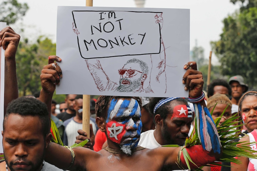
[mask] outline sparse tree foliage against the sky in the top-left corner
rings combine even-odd
[[[27,3],[18,3],[17,0],[4,0],[0,3],[0,21],[7,25],[22,18],[29,9]]]

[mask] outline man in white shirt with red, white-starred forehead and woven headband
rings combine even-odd
[[[165,101],[165,103],[162,103]],[[156,106],[159,106],[157,108]],[[157,148],[161,145],[184,145],[193,121],[192,111],[184,98],[150,98],[148,111],[154,116],[155,130],[141,134],[139,145]]]

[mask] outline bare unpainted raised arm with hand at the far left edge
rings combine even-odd
[[[4,114],[10,101],[18,98],[18,83],[16,76],[15,55],[20,41],[20,35],[11,27],[5,27],[0,31],[0,46],[5,50],[4,64]]]

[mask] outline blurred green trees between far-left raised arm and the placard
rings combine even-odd
[[[44,38],[44,39],[43,39]],[[37,43],[20,42],[16,54],[16,70],[20,96],[34,94],[41,90],[40,74],[48,63],[48,56],[55,55],[56,44],[45,37]]]

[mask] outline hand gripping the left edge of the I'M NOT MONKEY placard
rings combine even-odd
[[[42,89],[49,93],[55,91],[55,85],[59,84],[60,78],[62,78],[62,70],[55,61],[61,62],[61,58],[49,56],[48,65],[43,67],[40,75]]]

